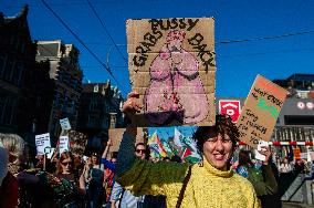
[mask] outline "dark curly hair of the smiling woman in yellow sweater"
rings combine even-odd
[[[239,131],[237,126],[232,123],[232,119],[228,115],[216,115],[216,125],[214,126],[199,126],[198,129],[193,133],[193,139],[197,142],[197,147],[200,153],[203,153],[202,146],[203,143],[211,137],[221,134],[228,134],[233,148],[239,141]]]

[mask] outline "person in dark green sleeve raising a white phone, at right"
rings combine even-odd
[[[265,147],[261,154],[265,156],[265,160],[262,164],[260,162],[254,164],[251,162],[250,152],[241,149],[237,171],[253,185],[262,207],[279,208],[278,183],[270,163],[271,150]]]

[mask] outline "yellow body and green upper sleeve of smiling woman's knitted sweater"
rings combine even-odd
[[[153,164],[136,159],[133,167],[116,180],[134,195],[165,195],[167,207],[176,207],[188,165],[170,162]],[[233,171],[221,171],[205,159],[193,165],[181,208],[255,208],[260,207],[253,186]]]

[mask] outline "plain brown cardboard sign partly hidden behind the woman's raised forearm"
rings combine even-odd
[[[109,148],[111,153],[118,152],[124,132],[125,128],[109,128],[109,138],[112,139],[112,146]],[[143,131],[143,128],[137,128],[136,144],[144,143],[146,137],[145,131]]]

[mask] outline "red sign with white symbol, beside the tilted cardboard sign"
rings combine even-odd
[[[232,122],[237,122],[241,113],[240,101],[237,100],[220,100],[219,114],[229,115]]]

